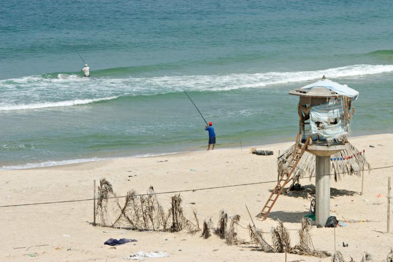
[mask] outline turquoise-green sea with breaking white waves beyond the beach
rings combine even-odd
[[[294,141],[291,89],[360,92],[392,132],[391,1],[0,0],[0,169]],[[83,62],[90,78],[82,78]],[[268,147],[267,147],[268,149]]]

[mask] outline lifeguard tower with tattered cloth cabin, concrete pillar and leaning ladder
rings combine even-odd
[[[289,165],[283,170],[258,217],[267,218],[284,186],[296,178],[292,175],[307,151],[315,155],[315,222],[324,226],[330,216],[330,158],[346,148],[353,115],[352,102],[358,98],[359,92],[323,77],[321,81],[292,90],[289,94],[300,97],[299,134]]]

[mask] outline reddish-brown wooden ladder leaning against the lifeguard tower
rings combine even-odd
[[[279,181],[277,181],[277,185],[270,194],[269,199],[266,201],[266,204],[263,206],[261,212],[257,215],[258,218],[262,218],[262,221],[264,221],[267,216],[270,213],[270,210],[272,210],[273,205],[276,203],[277,199],[279,198],[282,190],[284,189],[284,186],[291,180],[291,176],[293,172],[295,171],[296,166],[299,164],[300,159],[303,156],[303,153],[306,151],[306,148],[309,144],[309,141],[311,140],[311,137],[308,137],[306,142],[304,143],[304,146],[302,147],[302,144],[299,143],[299,139],[301,139],[301,135],[298,135],[296,138],[296,144],[295,148],[293,150],[293,155],[292,155],[292,160],[289,162],[289,167],[291,170],[290,172],[286,172],[286,170],[283,171],[283,173],[280,176]],[[284,176],[286,175],[286,179],[284,180]],[[282,184],[281,184],[282,183]]]

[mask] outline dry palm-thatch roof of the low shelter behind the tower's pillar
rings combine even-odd
[[[351,155],[355,155],[359,152],[355,146],[352,146],[349,142],[345,144],[346,148],[334,155],[332,158],[341,158]],[[277,159],[277,172],[279,175],[284,170],[288,170],[290,160],[292,159],[292,153],[295,145],[289,147],[283,154]],[[364,154],[358,154],[350,159],[341,161],[331,161],[330,170],[331,174],[335,175],[335,180],[339,179],[341,175],[361,175],[362,169],[370,169],[370,164],[365,159]],[[315,175],[315,156],[309,152],[304,152],[302,158],[297,165],[292,177],[303,177],[303,176],[314,176]]]

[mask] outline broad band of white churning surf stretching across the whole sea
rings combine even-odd
[[[339,81],[339,78],[387,72],[393,72],[392,64],[358,64],[314,71],[140,78],[82,78],[65,74],[51,78],[46,75],[34,75],[0,81],[0,111],[75,106],[119,96],[165,94],[181,91],[180,86],[195,91],[274,88],[288,83],[315,81],[322,75],[333,80],[338,78]],[[54,100],[57,102],[53,102]]]

